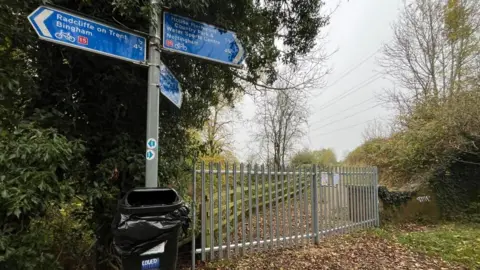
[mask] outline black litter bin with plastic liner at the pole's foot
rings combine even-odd
[[[124,270],[176,268],[180,229],[189,225],[189,209],[174,189],[135,188],[118,204],[113,244]]]

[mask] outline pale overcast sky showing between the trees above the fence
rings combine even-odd
[[[364,141],[363,131],[375,119],[385,122],[393,112],[379,98],[392,87],[378,65],[380,48],[393,36],[391,24],[399,16],[402,0],[326,0],[324,13],[330,24],[323,29],[325,51],[333,53],[326,66],[331,72],[325,87],[314,89],[309,99],[310,117],[301,148],[333,148],[337,157]],[[233,127],[235,153],[246,161],[252,153],[252,120],[255,102],[245,96],[237,109],[243,121]]]

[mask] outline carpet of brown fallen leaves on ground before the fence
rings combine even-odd
[[[257,252],[206,269],[466,269],[363,232],[327,238],[318,246]]]

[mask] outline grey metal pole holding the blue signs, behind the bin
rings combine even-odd
[[[158,122],[160,106],[160,17],[156,8],[158,0],[151,0],[152,20],[148,44],[148,105],[147,105],[147,151],[145,187],[158,186]]]

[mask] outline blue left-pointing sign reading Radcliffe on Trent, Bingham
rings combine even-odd
[[[137,34],[45,6],[28,20],[40,39],[137,64],[146,60],[146,39]]]

